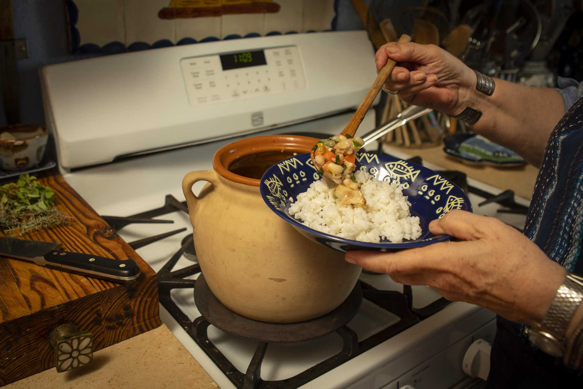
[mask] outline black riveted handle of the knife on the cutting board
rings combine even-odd
[[[132,282],[141,271],[132,260],[118,261],[98,255],[51,250],[44,255],[46,267],[107,279],[113,282]]]

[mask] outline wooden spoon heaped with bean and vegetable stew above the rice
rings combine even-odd
[[[409,43],[410,41],[411,37],[403,34],[399,38],[398,44]],[[329,178],[336,184],[349,185],[350,182],[356,183],[352,172],[356,168],[356,153],[364,145],[364,141],[362,138],[355,138],[354,135],[395,65],[395,61],[388,59],[387,65],[378,72],[373,86],[364,96],[363,101],[342,133],[331,136],[328,139],[320,139],[312,148],[310,153],[312,163],[321,176]]]

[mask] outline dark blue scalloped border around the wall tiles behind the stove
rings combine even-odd
[[[338,2],[339,0],[334,1],[334,17],[332,18],[331,29],[324,30],[325,31],[336,31],[336,26],[338,23]],[[142,51],[142,50],[149,50],[151,48],[161,48],[161,47],[170,47],[174,46],[174,43],[168,39],[161,39],[159,41],[154,42],[153,44],[148,44],[146,42],[134,42],[130,45],[126,46],[121,42],[115,41],[110,42],[102,47],[96,45],[94,43],[85,43],[83,45],[80,44],[81,42],[81,35],[79,30],[76,27],[77,22],[79,21],[79,8],[75,5],[75,1],[73,0],[66,0],[66,11],[69,17],[69,36],[71,37],[71,51],[73,54],[80,53],[80,54],[103,54],[103,55],[110,55],[110,54],[120,54],[122,52],[129,52],[129,51]],[[315,33],[315,30],[308,30],[305,31],[306,33]],[[265,34],[265,36],[274,36],[274,35],[283,35],[283,34],[298,34],[297,31],[287,31],[286,33],[282,33],[281,31],[269,31],[269,33]],[[260,37],[261,34],[259,33],[248,33],[244,36],[244,38],[255,38]],[[243,38],[239,34],[230,34],[223,38],[223,40],[231,40],[231,39],[239,39]],[[209,36],[200,41],[196,41],[194,38],[185,37],[181,38],[176,45],[184,45],[184,44],[195,44],[195,43],[205,43],[205,42],[213,42],[220,40],[220,38]]]

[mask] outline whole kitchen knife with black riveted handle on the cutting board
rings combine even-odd
[[[47,268],[128,283],[141,274],[136,262],[61,251],[61,243],[0,237],[0,255],[32,261]]]

